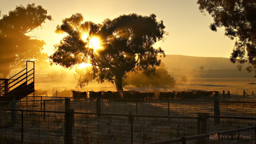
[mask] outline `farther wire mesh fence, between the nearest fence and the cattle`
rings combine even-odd
[[[67,97],[28,97],[19,101],[18,109],[63,111],[63,101]],[[138,100],[138,99],[92,99],[75,100],[71,108],[75,112],[101,112],[116,114],[158,115],[158,116],[197,116],[207,112],[214,116],[253,117],[256,102],[215,100]],[[31,100],[32,99],[32,100]],[[0,108],[8,108],[1,105]]]

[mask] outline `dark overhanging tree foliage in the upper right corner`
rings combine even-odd
[[[225,27],[225,35],[236,39],[230,61],[238,62],[241,70],[245,62],[248,72],[256,77],[256,1],[255,0],[198,0],[199,10],[207,11],[214,20],[210,29]]]

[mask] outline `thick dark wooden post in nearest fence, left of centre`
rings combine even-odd
[[[74,109],[66,109],[65,111],[65,144],[73,144],[74,130]]]

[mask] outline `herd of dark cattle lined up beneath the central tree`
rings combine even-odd
[[[72,91],[73,97],[75,100],[80,100],[81,98],[87,98],[86,92],[78,92]],[[182,92],[160,92],[160,91],[152,91],[152,92],[138,92],[135,90],[124,91],[121,92],[93,92],[89,91],[89,98],[104,98],[104,99],[160,99],[160,100],[189,100],[189,99],[199,99],[203,97],[218,97],[218,91],[201,91],[201,90],[193,90],[193,91],[182,91]]]

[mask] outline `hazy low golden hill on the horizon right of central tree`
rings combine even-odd
[[[229,58],[192,57],[186,55],[166,55],[162,59],[169,73],[175,79],[187,75],[189,79],[197,78],[253,78],[253,73],[248,73],[245,67],[239,71],[236,63],[231,63]],[[203,66],[201,71],[199,67]],[[194,69],[194,70],[193,70]]]

